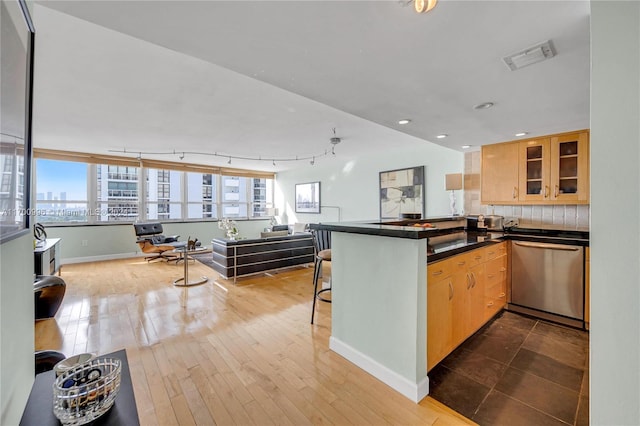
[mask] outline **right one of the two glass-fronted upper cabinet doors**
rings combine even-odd
[[[551,138],[551,199],[559,203],[589,202],[589,135]]]

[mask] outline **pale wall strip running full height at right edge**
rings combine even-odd
[[[591,424],[640,424],[640,3],[591,2]]]

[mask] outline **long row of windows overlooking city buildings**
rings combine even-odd
[[[204,166],[182,167],[187,170],[182,171],[178,170],[181,164],[173,169],[168,162],[153,163],[160,168],[145,167],[145,163],[135,167],[119,158],[113,160],[118,164],[85,163],[86,155],[67,154],[54,152],[50,158],[41,155],[36,160],[39,222],[251,219],[266,216],[273,206],[271,178],[197,171],[211,169]],[[69,157],[76,161],[66,161]],[[8,184],[2,180],[0,185]]]

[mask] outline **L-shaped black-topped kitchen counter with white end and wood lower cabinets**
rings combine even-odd
[[[435,227],[416,226],[422,222]],[[330,348],[416,402],[429,393],[431,368],[503,307],[512,308],[505,240],[588,246],[585,229],[472,232],[465,224],[444,217],[312,226],[332,231]],[[579,328],[589,321],[579,306],[588,304],[588,280],[581,282],[584,297],[571,299],[580,311],[571,325]]]

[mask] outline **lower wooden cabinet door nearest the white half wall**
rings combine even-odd
[[[451,350],[453,283],[451,277],[427,283],[427,371]]]

